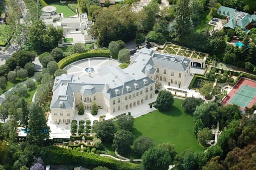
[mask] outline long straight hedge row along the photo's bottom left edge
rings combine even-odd
[[[46,152],[41,157],[46,165],[72,165],[92,169],[102,166],[111,170],[134,170],[137,165],[116,161],[112,158],[102,157],[94,153],[68,150],[65,148],[50,146],[45,148]]]

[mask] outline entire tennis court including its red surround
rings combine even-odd
[[[242,78],[223,99],[223,104],[237,104],[242,109],[256,103],[256,82]]]

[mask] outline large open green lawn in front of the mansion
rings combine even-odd
[[[148,136],[154,143],[175,144],[176,151],[181,153],[186,149],[203,151],[196,141],[193,132],[193,117],[185,113],[181,104],[184,100],[174,99],[174,104],[167,112],[155,110],[134,121],[133,134]]]

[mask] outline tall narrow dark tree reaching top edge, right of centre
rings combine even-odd
[[[176,6],[176,18],[174,33],[177,37],[182,37],[191,32],[191,22],[189,13],[189,0],[178,0]]]

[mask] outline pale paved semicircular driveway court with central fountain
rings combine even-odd
[[[88,77],[88,74],[91,74],[93,77],[97,77],[98,70],[107,65],[118,66],[118,61],[110,58],[89,58],[76,61],[69,64],[64,69],[67,70],[68,74],[80,77]]]

